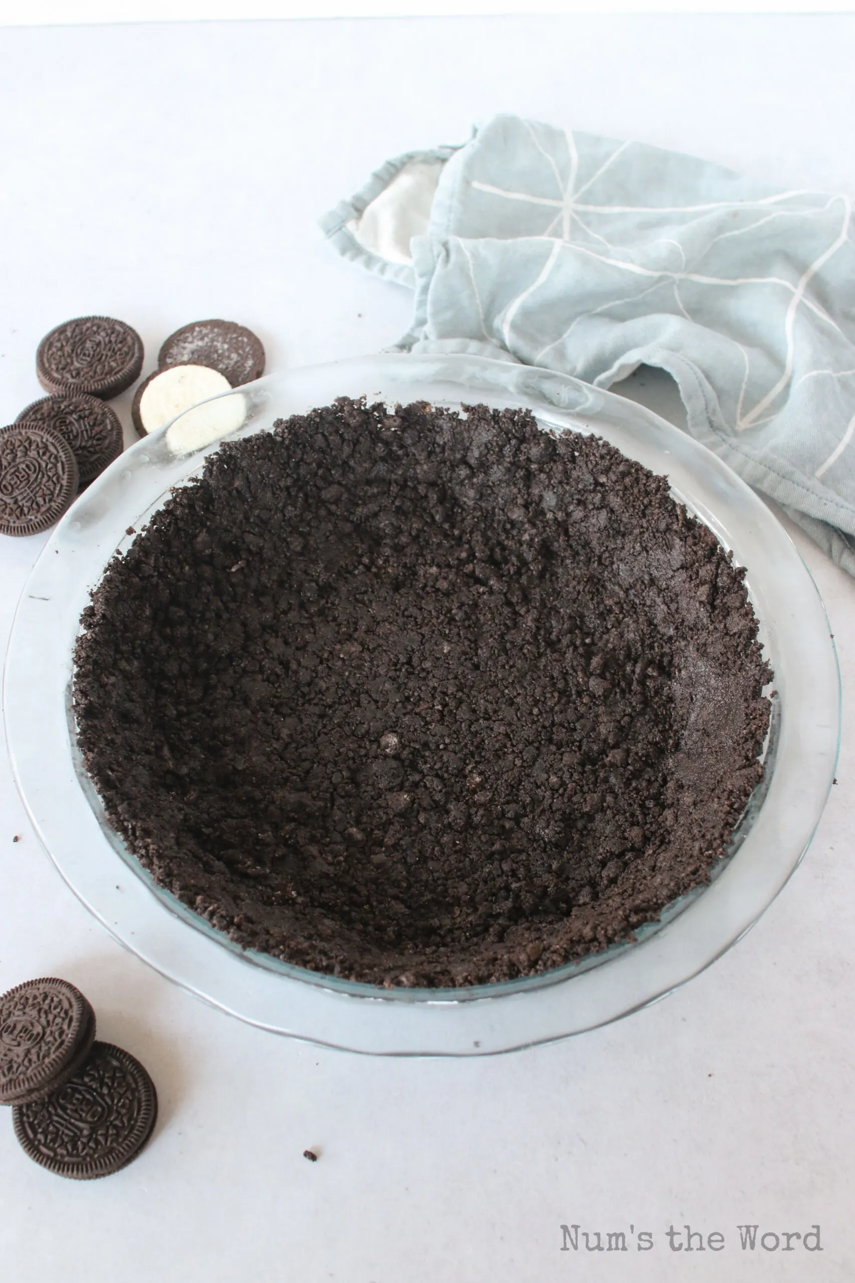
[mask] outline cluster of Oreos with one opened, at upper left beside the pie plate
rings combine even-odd
[[[120,453],[122,425],[105,402],[142,370],[142,340],[114,317],[76,317],[38,344],[36,375],[49,393],[0,429],[0,534],[36,535],[71,507]],[[183,411],[264,372],[264,348],[232,321],[195,321],[160,348],[132,418],[145,436]]]

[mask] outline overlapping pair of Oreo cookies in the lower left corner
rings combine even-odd
[[[24,1151],[60,1177],[108,1177],[136,1159],[158,1093],[133,1056],[95,1041],[91,1003],[68,980],[27,980],[0,997],[0,1105]]]

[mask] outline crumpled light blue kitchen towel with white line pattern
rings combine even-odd
[[[851,200],[499,115],[390,160],[320,226],[415,289],[397,348],[679,386],[688,431],[855,575]]]

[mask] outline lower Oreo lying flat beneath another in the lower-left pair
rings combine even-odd
[[[128,1052],[96,1042],[86,1064],[44,1101],[15,1106],[24,1152],[59,1177],[94,1180],[127,1166],[158,1119],[158,1093]]]

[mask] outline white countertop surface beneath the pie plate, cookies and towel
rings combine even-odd
[[[168,334],[208,316],[254,328],[268,371],[388,345],[408,291],[338,259],[315,218],[387,157],[460,141],[496,110],[855,194],[854,65],[854,17],[1,30],[0,421],[41,395],[36,345],[72,316],[133,325],[144,373]],[[661,380],[633,382],[678,418]],[[129,394],[115,404],[129,429]],[[0,650],[45,538],[0,536]],[[793,539],[845,684],[817,838],[704,975],[550,1047],[381,1060],[204,1006],[64,885],[4,749],[0,992],[73,980],[160,1096],[150,1146],[106,1180],[50,1175],[0,1119],[4,1283],[851,1280],[855,584]],[[650,1230],[654,1248],[629,1236],[627,1253],[561,1252],[574,1223]],[[665,1232],[686,1224],[723,1250],[673,1251]],[[740,1224],[819,1224],[823,1250],[742,1251]]]

